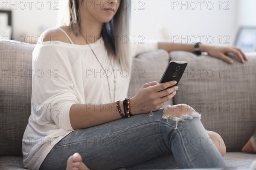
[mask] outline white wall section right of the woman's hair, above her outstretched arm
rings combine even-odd
[[[203,43],[215,45],[229,45],[225,43],[233,44],[235,40],[239,25],[237,0],[144,2],[144,10],[135,9],[132,13],[134,35],[144,35],[147,39],[168,39],[175,43],[193,43],[197,37]]]

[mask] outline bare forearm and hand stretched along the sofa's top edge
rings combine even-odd
[[[171,51],[187,51],[187,52],[194,52],[194,44],[179,44],[179,43],[170,43],[170,42],[159,42],[158,49],[165,49],[168,52]],[[205,44],[199,44],[199,49],[201,52],[207,52],[211,57],[219,58],[227,63],[233,63],[233,60],[228,57],[227,53],[233,53],[236,55],[241,63],[247,61],[247,57],[242,52],[241,49],[237,47],[221,47],[221,46],[209,46]]]

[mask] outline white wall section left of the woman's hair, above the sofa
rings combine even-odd
[[[27,35],[41,35],[55,26],[58,14],[55,7],[60,9],[58,4],[57,0],[1,0],[0,9],[12,10],[13,37],[23,41],[25,36],[28,41]],[[32,42],[34,40],[32,37]]]

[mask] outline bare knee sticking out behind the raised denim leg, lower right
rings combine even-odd
[[[221,153],[222,156],[224,156],[226,154],[226,146],[221,136],[218,133],[209,130],[207,130],[207,133],[209,137],[212,138],[218,151]]]

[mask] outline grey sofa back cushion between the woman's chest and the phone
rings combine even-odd
[[[169,60],[168,52],[161,49],[137,55],[132,63],[128,96],[134,97],[145,83],[159,82]],[[172,104],[172,99],[167,104]]]

